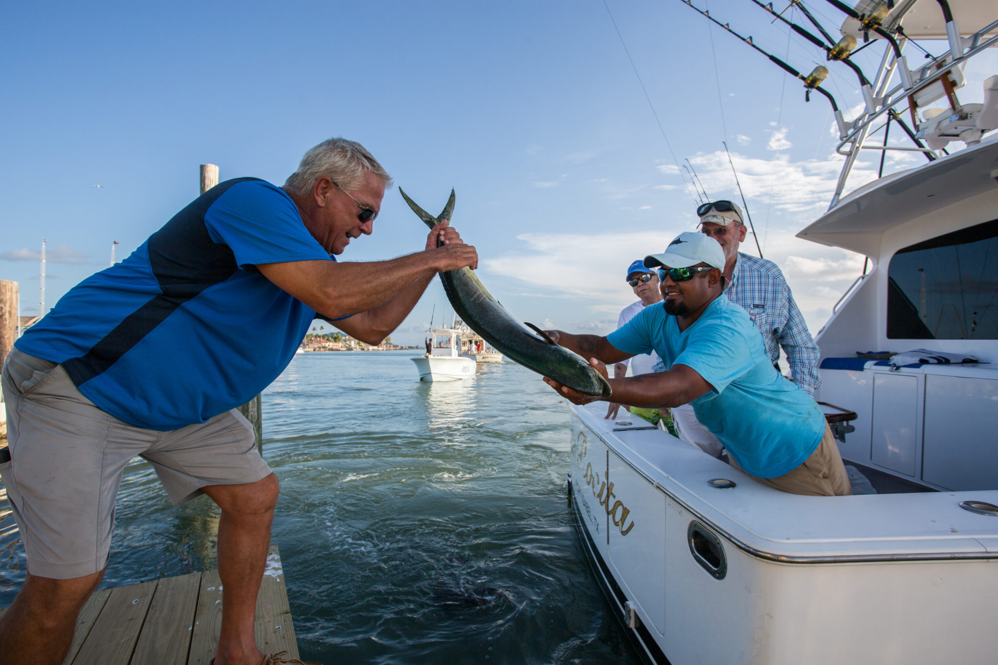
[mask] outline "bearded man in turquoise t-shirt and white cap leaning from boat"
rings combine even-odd
[[[612,399],[634,407],[692,404],[732,466],[798,495],[850,495],[838,447],[817,403],[773,368],[744,309],[723,297],[725,254],[714,238],[681,233],[662,254],[662,306],[646,307],[607,337],[549,331],[606,376],[603,363],[655,350],[667,371],[609,379]],[[545,379],[575,404],[595,399]]]

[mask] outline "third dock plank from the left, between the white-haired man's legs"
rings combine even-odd
[[[156,584],[153,602],[139,634],[133,663],[185,665],[194,632],[201,573],[164,577]]]

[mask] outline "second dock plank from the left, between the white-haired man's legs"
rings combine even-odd
[[[128,665],[154,593],[156,581],[112,589],[73,665]]]

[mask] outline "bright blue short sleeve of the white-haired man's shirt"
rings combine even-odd
[[[263,180],[240,182],[205,213],[212,240],[229,245],[242,268],[259,263],[329,260],[280,188]]]

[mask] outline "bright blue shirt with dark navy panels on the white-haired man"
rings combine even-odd
[[[204,423],[249,402],[293,358],[315,311],[255,265],[303,260],[332,257],[282,189],[221,182],[73,287],[15,346],[61,364],[126,423]]]

